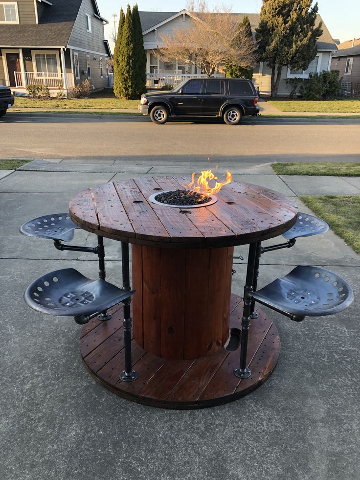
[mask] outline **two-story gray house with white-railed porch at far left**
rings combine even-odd
[[[0,84],[18,96],[33,84],[56,96],[86,78],[109,87],[104,23],[96,0],[0,0]]]

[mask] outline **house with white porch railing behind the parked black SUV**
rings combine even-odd
[[[144,39],[144,49],[147,55],[147,87],[156,87],[159,83],[167,83],[176,85],[182,80],[197,76],[206,76],[202,73],[200,66],[196,67],[190,63],[181,64],[176,58],[171,62],[162,62],[156,50],[161,47],[161,33],[170,35],[174,28],[189,28],[192,21],[192,14],[187,10],[180,12],[139,12]],[[255,34],[255,28],[259,23],[258,13],[234,13],[235,21],[241,22],[245,15],[248,16],[251,30]],[[337,45],[330,35],[329,30],[317,15],[316,25],[322,22],[323,33],[318,39],[317,54],[306,70],[291,70],[283,68],[282,79],[279,86],[279,95],[289,95],[289,89],[286,85],[287,78],[301,77],[307,78],[310,72],[320,72],[322,70],[330,70],[331,55],[337,50]],[[214,76],[225,76],[222,71],[217,71]],[[259,88],[263,95],[271,93],[271,69],[266,63],[260,62],[255,65],[253,73],[253,83]]]

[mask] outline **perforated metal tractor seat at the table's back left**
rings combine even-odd
[[[20,232],[28,237],[50,238],[69,242],[79,227],[73,223],[68,213],[52,213],[34,218],[20,227]]]

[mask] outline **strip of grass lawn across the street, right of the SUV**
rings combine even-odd
[[[281,112],[360,113],[359,100],[269,100]]]

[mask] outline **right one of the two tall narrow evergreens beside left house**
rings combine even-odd
[[[137,4],[133,7],[133,41],[134,41],[134,98],[140,98],[146,92],[146,54]]]

